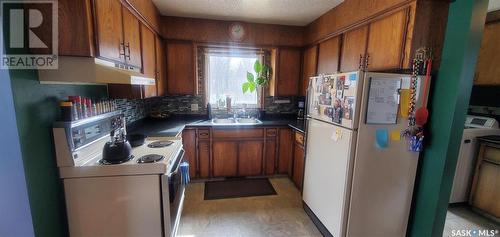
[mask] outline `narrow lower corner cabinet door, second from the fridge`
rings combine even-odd
[[[292,174],[292,130],[289,128],[279,129],[279,146],[278,146],[278,173]]]

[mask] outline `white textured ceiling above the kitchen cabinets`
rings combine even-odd
[[[153,0],[164,16],[297,26],[311,23],[341,2],[343,0]]]

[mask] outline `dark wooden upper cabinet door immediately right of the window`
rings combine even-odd
[[[275,96],[294,96],[299,92],[300,50],[282,48],[279,50],[278,77]]]

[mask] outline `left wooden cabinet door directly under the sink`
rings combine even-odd
[[[238,142],[214,141],[212,150],[214,177],[238,175]]]

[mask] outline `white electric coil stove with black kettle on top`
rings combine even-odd
[[[180,138],[132,148],[117,112],[56,122],[53,133],[70,236],[176,235],[189,181]]]

